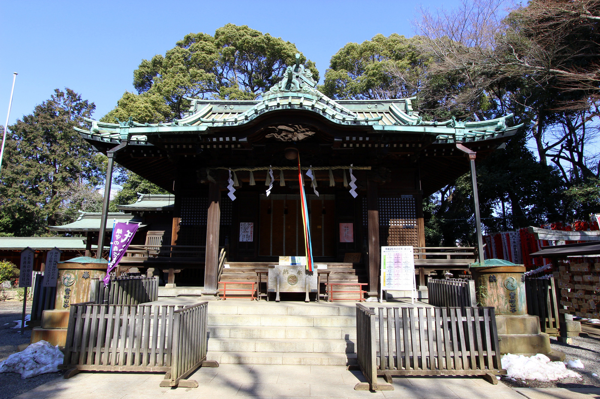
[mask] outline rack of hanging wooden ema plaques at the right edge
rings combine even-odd
[[[581,318],[600,318],[600,262],[595,258],[571,260],[553,273],[560,289],[560,313]]]

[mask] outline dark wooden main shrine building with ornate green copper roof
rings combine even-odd
[[[187,98],[189,111],[171,123],[88,119],[89,130],[77,129],[171,194],[154,197],[154,207],[152,195],[119,206],[147,226],[136,241],[145,252],[121,264],[217,295],[223,276],[256,279],[279,256],[304,256],[299,158],[315,263],[368,283],[369,295],[378,291],[380,246],[413,246],[419,285],[427,271],[466,269],[475,248],[425,246],[422,199],[469,171],[465,147],[481,159],[521,125],[508,126],[511,115],[428,122],[414,98],[334,100],[316,84],[297,57],[254,101]],[[220,269],[223,254],[231,272]]]

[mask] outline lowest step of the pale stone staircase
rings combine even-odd
[[[219,364],[349,365],[356,364],[356,353],[209,351],[206,359]]]

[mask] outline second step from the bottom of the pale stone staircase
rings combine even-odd
[[[355,353],[352,340],[216,338],[208,340],[208,350],[215,352],[302,352]]]

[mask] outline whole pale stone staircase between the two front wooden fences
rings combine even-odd
[[[211,302],[208,309],[208,360],[356,364],[355,303],[226,300]]]

